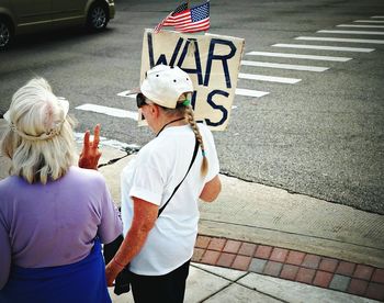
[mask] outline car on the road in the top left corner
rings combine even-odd
[[[22,33],[77,24],[100,31],[114,14],[114,0],[0,0],[0,49]]]

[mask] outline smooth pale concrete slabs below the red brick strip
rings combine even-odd
[[[134,302],[132,293],[116,296],[115,303]],[[268,302],[376,302],[339,291],[310,287],[255,272],[192,263],[185,303],[268,303]]]

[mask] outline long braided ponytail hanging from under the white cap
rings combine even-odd
[[[194,112],[193,112],[191,104],[189,104],[189,102],[188,102],[188,104],[185,104],[185,103],[183,103],[184,101],[189,101],[187,93],[183,93],[180,96],[179,101],[178,101],[174,110],[167,109],[167,108],[162,108],[162,109],[165,109],[167,112],[178,112],[179,114],[182,114],[184,116],[185,121],[190,124],[190,126],[194,133],[194,136],[196,137],[196,139],[199,142],[200,148],[202,150],[203,162],[201,166],[201,175],[203,177],[205,177],[206,173],[208,172],[208,159],[206,158],[206,155],[205,155],[203,137],[202,137],[200,130],[197,127],[197,123],[194,120]]]

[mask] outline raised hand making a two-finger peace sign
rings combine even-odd
[[[99,159],[101,157],[101,153],[99,150],[100,124],[94,126],[93,141],[90,141],[90,131],[87,131],[84,134],[82,150],[79,157],[79,167],[98,169]]]

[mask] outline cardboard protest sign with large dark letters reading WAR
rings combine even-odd
[[[142,77],[151,67],[179,66],[193,81],[192,106],[196,121],[205,121],[212,131],[224,131],[235,98],[244,50],[244,38],[222,35],[192,35],[145,30]]]

